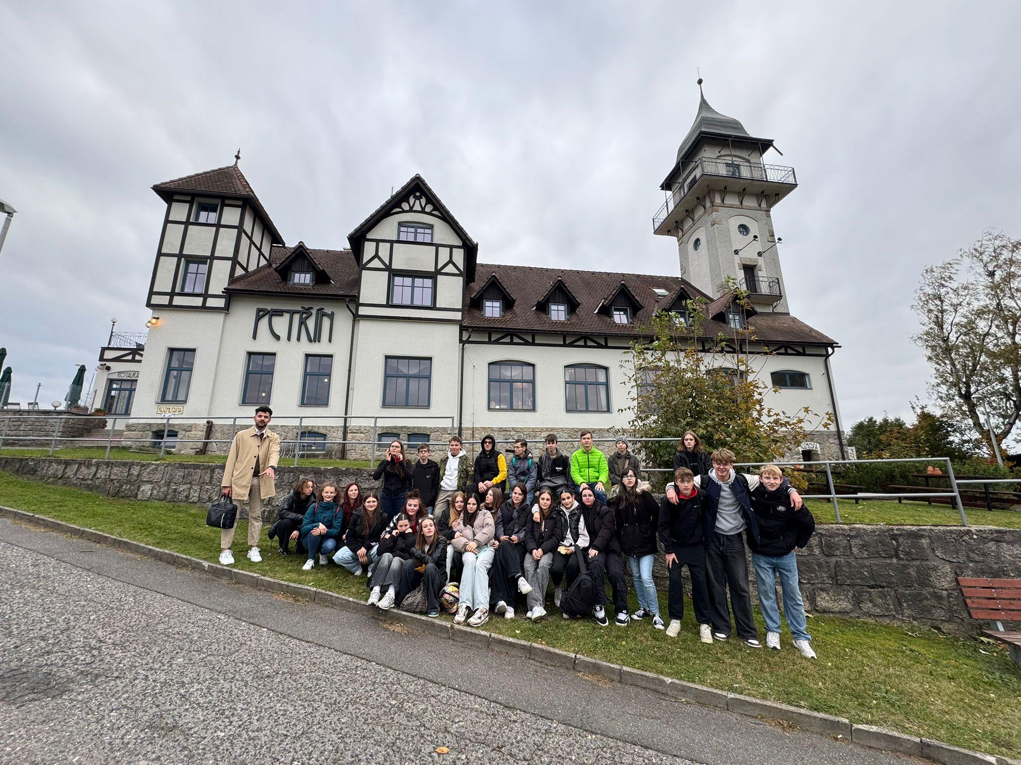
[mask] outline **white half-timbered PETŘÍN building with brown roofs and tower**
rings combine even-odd
[[[621,362],[637,327],[701,298],[708,320],[693,342],[753,329],[748,352],[776,386],[770,405],[837,415],[814,437],[835,456],[837,344],[789,312],[770,213],[796,181],[793,168],[765,163],[772,144],[700,99],[653,218],[653,233],[678,243],[677,275],[479,262],[479,246],[419,175],[344,249],[286,245],[237,162],[157,184],[166,211],[144,356],[104,348],[111,369],[97,375],[96,403],[144,418],[131,428],[157,441],[163,427],[182,441],[203,428],[222,436],[269,404],[285,439],[300,424],[310,448],[374,428],[377,440],[443,441],[453,428],[473,442],[552,430],[573,443],[583,427],[627,429]],[[137,372],[127,404],[121,371]]]

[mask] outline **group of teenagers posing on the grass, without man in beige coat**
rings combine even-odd
[[[572,585],[587,575],[590,615],[610,624],[609,579],[615,623],[647,620],[676,636],[684,616],[682,569],[687,567],[698,636],[702,643],[731,636],[730,612],[739,640],[761,648],[752,618],[745,544],[751,551],[766,646],[780,649],[779,580],[783,612],[794,648],[816,658],[807,631],[794,551],[808,544],[815,520],[776,465],[757,475],[736,473],[728,449],[712,454],[698,437],[684,434],[674,456],[674,480],[657,501],[641,466],[621,438],[607,457],[584,430],[579,448],[561,452],[545,438],[536,458],[528,443],[515,443],[507,459],[493,436],[470,459],[458,437],[434,462],[428,445],[410,461],[403,444],[389,445],[374,472],[379,489],[356,482],[341,490],[302,478],[270,528],[279,552],[290,543],[303,551],[304,569],[332,560],[366,576],[369,603],[438,616],[454,623],[484,624],[491,614],[513,619],[524,599],[525,618],[548,615],[547,590],[564,618],[579,617]],[[509,492],[504,493],[509,486]],[[652,564],[662,545],[668,570],[669,625],[660,614]],[[628,606],[625,562],[638,608]],[[728,608],[729,595],[729,608]],[[588,606],[586,605],[586,608]]]

